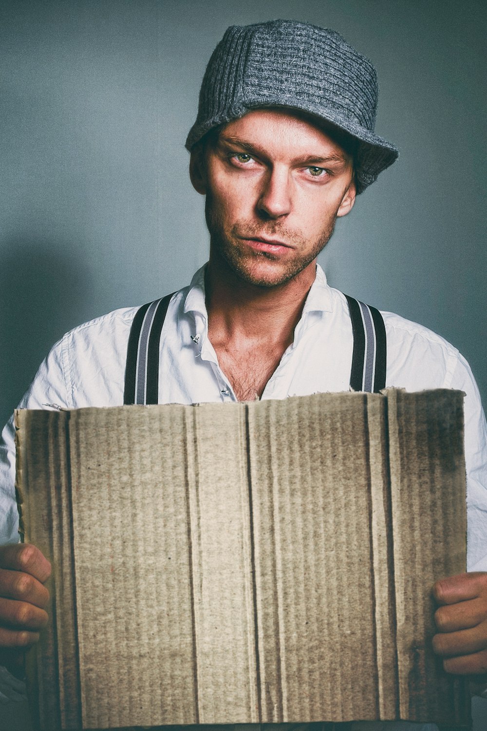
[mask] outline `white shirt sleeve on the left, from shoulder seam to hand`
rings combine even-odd
[[[69,409],[64,376],[62,341],[42,362],[23,396],[19,409]],[[17,543],[18,510],[15,499],[15,427],[10,417],[0,439],[0,545]]]

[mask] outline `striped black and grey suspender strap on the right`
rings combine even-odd
[[[378,393],[386,387],[386,327],[375,307],[345,295],[353,328],[350,388]]]

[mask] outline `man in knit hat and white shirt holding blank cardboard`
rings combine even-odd
[[[397,157],[375,135],[376,105],[375,70],[333,31],[282,20],[226,31],[186,142],[191,182],[206,195],[210,260],[168,304],[160,403],[348,390],[348,302],[328,287],[316,257],[336,219]],[[135,309],[119,310],[67,333],[20,406],[123,404],[134,319]],[[487,673],[487,427],[478,390],[453,346],[394,314],[383,320],[387,386],[466,393],[470,573],[434,588],[434,649],[448,673]],[[16,544],[12,423],[0,456],[8,544],[0,549],[0,646],[13,663],[47,620],[50,567],[36,548]]]

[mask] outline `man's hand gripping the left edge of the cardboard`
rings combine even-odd
[[[0,664],[19,664],[47,624],[50,563],[29,543],[0,546]]]

